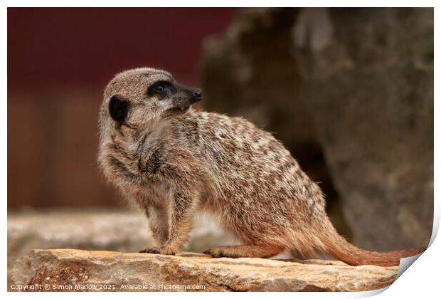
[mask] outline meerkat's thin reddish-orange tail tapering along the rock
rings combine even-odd
[[[328,225],[326,229],[319,234],[326,253],[338,258],[340,261],[351,266],[376,265],[376,266],[399,266],[400,258],[415,256],[424,250],[409,251],[388,251],[376,252],[366,251],[346,241],[346,239],[337,233],[331,221],[326,217]]]

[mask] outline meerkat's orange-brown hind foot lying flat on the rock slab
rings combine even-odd
[[[285,250],[283,245],[235,245],[219,246],[207,249],[203,253],[213,258],[270,258]]]

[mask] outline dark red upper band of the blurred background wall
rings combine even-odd
[[[194,81],[203,38],[223,33],[235,11],[8,9],[8,85],[104,85],[142,65]]]

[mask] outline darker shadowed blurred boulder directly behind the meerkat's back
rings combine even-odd
[[[292,46],[298,11],[245,9],[225,36],[206,38],[201,65],[203,105],[206,110],[243,116],[274,132],[309,177],[320,182],[336,229],[351,237],[312,115],[299,93],[301,78]]]

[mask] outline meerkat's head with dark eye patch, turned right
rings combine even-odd
[[[184,114],[202,99],[201,90],[177,83],[165,70],[136,68],[119,73],[105,88],[100,110],[101,130],[122,125],[152,127]],[[106,128],[103,128],[106,127]]]

